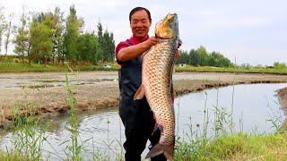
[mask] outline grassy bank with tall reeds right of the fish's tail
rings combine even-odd
[[[234,91],[232,93],[233,99]],[[270,118],[266,121],[273,123],[272,133],[258,133],[256,127],[254,131],[243,131],[242,121],[239,121],[240,131],[237,132],[234,130],[232,116],[233,100],[230,111],[219,106],[217,100],[213,106],[214,118],[210,120],[209,110],[206,109],[207,94],[205,95],[204,127],[202,129],[199,124],[196,127],[192,126],[192,118],[190,118],[189,131],[183,133],[184,137],[177,137],[174,160],[287,159],[287,140],[284,139],[287,136],[287,129],[286,122],[282,122],[283,115],[276,116],[277,114],[270,108]],[[210,127],[213,131],[207,131],[209,123],[213,123]]]

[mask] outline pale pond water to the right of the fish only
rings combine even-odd
[[[193,125],[193,127],[196,127],[196,125],[203,127],[204,108],[206,108],[211,121],[209,131],[213,131],[215,107],[218,109],[223,108],[224,112],[227,112],[226,116],[228,116],[231,114],[233,106],[235,131],[274,131],[272,129],[273,124],[266,122],[266,120],[283,116],[278,98],[274,95],[276,89],[283,89],[286,85],[286,83],[236,85],[234,89],[229,86],[178,97],[176,101],[179,106],[178,129],[179,131],[188,131],[188,124]],[[281,121],[284,118],[285,116],[282,117]],[[231,117],[227,118],[227,122],[230,120]]]

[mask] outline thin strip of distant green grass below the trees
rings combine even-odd
[[[104,65],[109,64],[109,68]],[[116,62],[98,64],[98,65],[75,65],[71,67],[73,70],[78,71],[117,71],[119,65]],[[4,59],[0,56],[0,72],[61,72],[69,70],[67,65],[61,64],[31,64],[29,66],[27,60],[22,63],[22,59],[17,56],[9,56]],[[287,69],[274,69],[274,68],[222,68],[212,66],[195,67],[187,65],[179,67],[175,65],[176,72],[247,72],[247,73],[274,73],[274,74],[287,74]]]

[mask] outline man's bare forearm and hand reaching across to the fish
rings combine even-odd
[[[132,60],[135,57],[142,55],[146,50],[154,46],[158,42],[158,40],[158,38],[151,37],[143,43],[137,44],[135,46],[122,48],[118,51],[117,60],[121,62]]]

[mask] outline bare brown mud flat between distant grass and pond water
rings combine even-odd
[[[80,72],[68,74],[69,85],[80,110],[118,105],[117,72]],[[287,82],[287,76],[273,74],[234,74],[213,72],[176,72],[174,89],[178,94],[216,86],[243,83]],[[287,109],[287,88],[278,91]],[[0,73],[0,124],[13,118],[13,111],[21,114],[39,113],[46,116],[65,114],[64,72]]]

